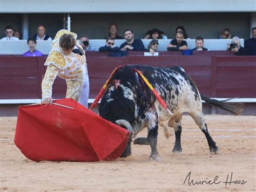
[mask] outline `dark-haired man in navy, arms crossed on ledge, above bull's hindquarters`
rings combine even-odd
[[[184,39],[184,34],[181,31],[176,33],[176,38],[172,39],[167,45],[167,51],[187,50],[187,42]]]

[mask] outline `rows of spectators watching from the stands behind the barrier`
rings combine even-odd
[[[117,25],[111,23],[109,25],[109,34],[104,38],[106,39],[105,46],[99,48],[100,52],[109,52],[109,56],[122,57],[127,54],[127,51],[149,51],[152,55],[157,52],[158,39],[167,39],[167,36],[163,31],[159,29],[152,29],[146,32],[144,39],[152,39],[149,45],[144,47],[141,39],[135,39],[134,33],[131,29],[124,31],[124,37],[117,34]],[[24,53],[23,56],[41,56],[42,53],[36,50],[36,43],[38,40],[52,40],[52,38],[46,35],[46,29],[43,25],[39,25],[37,33],[28,39],[29,51]],[[12,26],[6,26],[6,36],[1,40],[19,40],[21,39],[21,32],[14,30]],[[114,46],[115,39],[124,39],[125,42],[120,47]],[[183,51],[184,53],[190,54],[192,51],[207,51],[204,47],[203,37],[197,37],[195,47],[192,50],[188,50],[187,42],[184,39],[190,39],[186,33],[184,26],[177,26],[176,37],[174,37],[169,44],[166,45],[167,51]],[[256,56],[256,28],[252,28],[252,38],[245,40],[245,47],[241,46],[240,38],[235,36],[232,38],[231,30],[225,28],[221,31],[219,39],[231,39],[231,43],[227,44],[227,50],[234,52],[235,56]],[[89,42],[89,37],[84,35],[80,38],[80,44],[84,51],[96,51]]]

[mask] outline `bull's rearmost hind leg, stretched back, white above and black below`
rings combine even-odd
[[[199,126],[201,131],[205,134],[208,146],[210,148],[211,153],[217,153],[218,147],[216,146],[216,143],[213,141],[210,133],[208,132],[206,122],[204,120],[204,115],[202,112],[194,112],[194,113],[189,113],[190,116],[194,119],[196,124]]]

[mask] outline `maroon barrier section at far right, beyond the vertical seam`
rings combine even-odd
[[[217,57],[217,97],[256,98],[255,57]]]

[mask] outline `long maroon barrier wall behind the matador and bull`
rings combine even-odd
[[[256,57],[212,55],[167,55],[158,57],[87,56],[90,98],[98,94],[114,67],[136,64],[171,67],[182,66],[201,94],[207,97],[256,98]],[[99,52],[97,52],[99,54]],[[0,57],[0,99],[41,98],[41,82],[46,67],[45,57]],[[56,78],[53,98],[64,98],[65,80]]]

